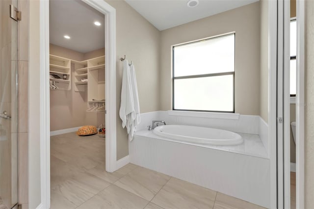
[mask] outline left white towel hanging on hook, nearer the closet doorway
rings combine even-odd
[[[121,103],[119,115],[122,120],[122,127],[127,127],[127,131],[128,133],[130,133],[131,124],[134,122],[135,119],[135,109],[131,86],[130,66],[128,60],[126,59],[123,62]]]

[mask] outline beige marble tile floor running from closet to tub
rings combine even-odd
[[[105,171],[105,138],[51,137],[51,209],[262,209],[134,164]]]

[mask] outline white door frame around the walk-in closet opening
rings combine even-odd
[[[116,10],[105,0],[82,0],[105,15],[105,170],[117,170],[116,142]],[[41,203],[50,208],[49,0],[40,0],[40,184]]]

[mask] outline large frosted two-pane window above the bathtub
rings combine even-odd
[[[173,109],[234,112],[235,33],[173,47]]]

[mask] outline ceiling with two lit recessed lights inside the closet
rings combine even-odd
[[[105,47],[104,14],[81,0],[50,0],[49,5],[51,44],[82,53]],[[102,25],[95,26],[95,21]]]

